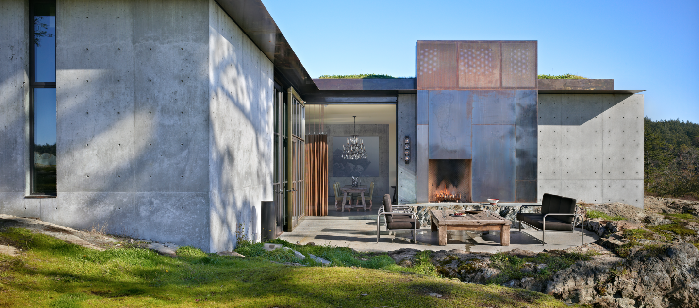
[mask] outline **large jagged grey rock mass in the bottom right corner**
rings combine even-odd
[[[598,255],[556,273],[545,293],[596,307],[698,307],[699,252],[688,243]]]

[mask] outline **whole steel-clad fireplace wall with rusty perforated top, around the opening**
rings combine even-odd
[[[416,55],[417,202],[428,159],[473,160],[473,202],[536,202],[536,41],[418,41]]]

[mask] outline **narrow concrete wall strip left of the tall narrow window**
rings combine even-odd
[[[29,129],[29,8],[0,1],[0,213],[38,217],[41,200],[24,200]]]

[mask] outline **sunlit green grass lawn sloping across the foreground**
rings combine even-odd
[[[138,247],[95,251],[2,231],[0,244],[22,255],[0,255],[0,307],[568,307],[528,290],[397,269],[292,267],[195,248],[180,258]]]

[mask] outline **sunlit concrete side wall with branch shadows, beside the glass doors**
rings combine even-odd
[[[238,224],[259,240],[273,200],[273,64],[210,1],[210,251],[233,248]]]

